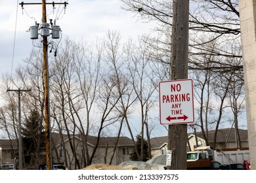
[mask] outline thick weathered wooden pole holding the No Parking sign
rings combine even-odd
[[[171,80],[188,78],[188,14],[189,0],[173,0]],[[187,124],[169,125],[171,165],[167,169],[186,169],[187,136]]]

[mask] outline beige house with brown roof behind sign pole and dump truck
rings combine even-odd
[[[248,148],[248,134],[247,130],[239,129],[240,140],[242,144],[242,148]],[[214,141],[214,130],[208,131],[208,140],[209,146],[213,146]],[[196,138],[197,137],[197,138]],[[196,139],[198,140],[198,147],[206,146],[206,142],[203,138],[202,132],[199,133],[188,133],[188,149],[194,150],[196,148]],[[216,149],[223,149],[223,148],[236,148],[237,140],[236,140],[236,132],[234,128],[226,128],[226,129],[219,129],[217,133],[216,139]],[[166,154],[167,152],[167,142],[168,137],[155,137],[150,140],[151,142],[151,152],[152,156],[159,156],[161,154]]]

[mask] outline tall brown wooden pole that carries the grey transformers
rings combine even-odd
[[[47,23],[46,16],[46,4],[45,0],[42,0],[42,23]],[[47,36],[43,37],[43,89],[45,100],[45,148],[46,148],[46,164],[47,170],[51,170],[51,125],[50,125],[50,110],[49,110],[49,71],[48,71],[48,55],[47,55]]]

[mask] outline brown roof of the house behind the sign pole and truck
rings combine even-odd
[[[240,139],[241,141],[248,141],[248,134],[247,134],[247,129],[238,129]],[[208,132],[208,139],[209,142],[213,142],[214,140],[214,133],[215,130],[210,130]],[[229,137],[228,137],[229,134]],[[188,133],[188,136],[194,135],[194,133]],[[196,133],[197,137],[204,139],[202,132],[197,132]],[[226,139],[228,138],[228,142],[235,142],[236,141],[236,134],[234,131],[234,128],[225,128],[225,129],[219,129],[217,133],[217,142],[226,142]],[[168,136],[163,136],[163,137],[154,137],[150,139],[152,149],[157,149],[163,146],[163,144],[168,142]]]

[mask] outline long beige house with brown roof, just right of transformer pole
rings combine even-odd
[[[62,139],[62,140],[60,140]],[[93,150],[96,146],[97,137],[88,136],[87,146],[89,148],[89,156],[91,157]],[[72,145],[70,144],[72,142]],[[53,152],[54,162],[65,162],[67,167],[75,169],[75,159],[72,153],[75,148],[75,154],[81,167],[85,167],[85,141],[81,135],[72,135],[68,138],[68,135],[62,135],[62,138],[58,134],[53,135],[53,146],[55,147]],[[117,143],[116,143],[117,142]],[[92,163],[106,163],[111,161],[112,165],[119,165],[123,161],[129,161],[131,152],[134,150],[133,141],[128,137],[100,137],[98,147],[95,155],[93,156]]]

